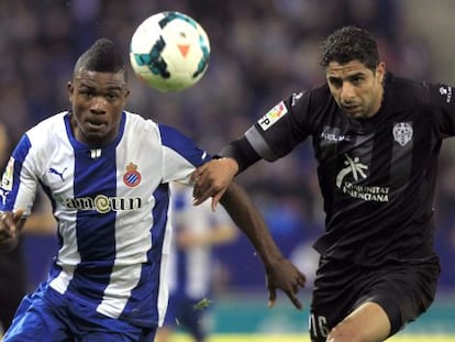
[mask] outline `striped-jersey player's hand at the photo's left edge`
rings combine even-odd
[[[9,253],[19,243],[19,235],[25,223],[23,210],[0,212],[0,253]]]

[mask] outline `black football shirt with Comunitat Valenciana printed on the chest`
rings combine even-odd
[[[325,84],[282,100],[245,137],[267,161],[312,139],[326,213],[314,247],[323,256],[360,265],[434,257],[437,155],[455,135],[453,91],[388,73],[379,112],[354,120]]]

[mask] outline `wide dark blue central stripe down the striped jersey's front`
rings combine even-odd
[[[98,293],[101,300],[115,258],[115,211],[100,212],[109,198],[116,195],[115,146],[103,148],[98,158],[91,158],[87,150],[75,150],[74,192],[75,198],[92,199],[96,209],[77,213],[77,245],[81,261],[71,285]]]

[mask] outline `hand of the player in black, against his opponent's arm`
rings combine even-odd
[[[233,158],[212,159],[198,167],[191,175],[195,185],[192,196],[195,206],[212,197],[212,210],[215,210],[221,197],[238,172],[238,164]]]

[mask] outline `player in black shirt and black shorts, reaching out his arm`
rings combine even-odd
[[[432,206],[441,144],[455,135],[454,90],[393,76],[353,26],[324,41],[321,65],[325,84],[280,101],[193,174],[195,203],[212,196],[214,209],[236,174],[311,136],[326,213],[311,339],[382,341],[435,296]]]

